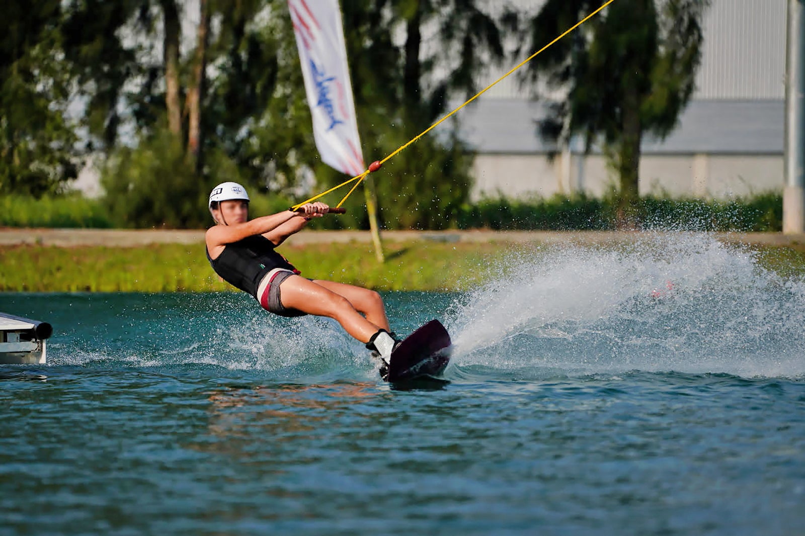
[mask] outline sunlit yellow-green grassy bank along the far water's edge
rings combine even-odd
[[[285,245],[281,249],[308,278],[353,283],[378,291],[464,291],[495,274],[496,262],[534,245],[505,242],[410,241],[386,244],[378,264],[371,245]],[[759,249],[762,266],[786,277],[805,277],[805,251]],[[19,245],[0,250],[0,291],[226,291],[203,245],[59,248]]]

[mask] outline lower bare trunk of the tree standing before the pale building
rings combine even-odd
[[[617,172],[621,189],[617,204],[618,229],[637,229],[640,225],[640,98],[633,85],[627,86],[624,95],[621,139],[617,143]]]

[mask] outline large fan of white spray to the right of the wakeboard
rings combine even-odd
[[[536,248],[498,274],[454,307],[460,367],[805,373],[805,282],[706,234]]]

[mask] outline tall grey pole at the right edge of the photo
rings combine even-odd
[[[805,0],[788,0],[782,232],[805,232]]]

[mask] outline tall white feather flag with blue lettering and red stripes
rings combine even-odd
[[[321,159],[360,175],[365,167],[338,0],[288,0],[288,8]]]

